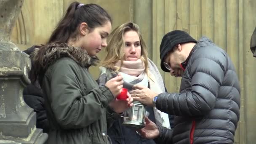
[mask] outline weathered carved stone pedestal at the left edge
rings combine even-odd
[[[9,41],[22,4],[0,0],[0,144],[43,144],[48,138],[36,128],[36,113],[23,100],[30,83],[29,56]]]

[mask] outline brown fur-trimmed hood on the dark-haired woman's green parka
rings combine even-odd
[[[37,70],[44,72],[48,67],[63,57],[69,57],[77,62],[81,67],[96,66],[99,62],[97,56],[89,56],[87,51],[82,48],[76,48],[67,43],[51,43],[43,45],[40,49],[36,49],[32,55],[32,59],[37,64]]]

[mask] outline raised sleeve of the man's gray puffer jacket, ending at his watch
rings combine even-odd
[[[170,115],[200,116],[215,106],[220,84],[224,80],[225,53],[214,48],[201,48],[189,60],[182,83],[181,93],[161,93],[156,106]],[[217,56],[217,57],[213,57]],[[232,77],[230,77],[232,78]]]

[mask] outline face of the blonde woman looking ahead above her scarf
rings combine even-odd
[[[141,58],[141,42],[137,32],[130,30],[124,33],[124,60],[137,61]]]

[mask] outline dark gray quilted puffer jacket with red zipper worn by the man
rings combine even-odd
[[[156,102],[157,109],[176,115],[173,131],[159,128],[159,140],[173,144],[233,144],[240,86],[231,59],[203,37],[183,66],[186,69],[180,93],[162,93]]]

